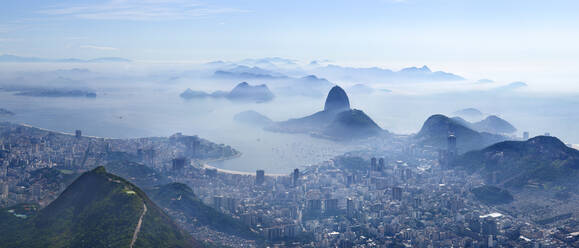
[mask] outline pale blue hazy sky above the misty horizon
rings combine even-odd
[[[427,64],[473,77],[559,75],[576,71],[579,58],[578,1],[2,0],[1,6],[0,54],[20,56],[153,62],[279,56],[394,69]]]

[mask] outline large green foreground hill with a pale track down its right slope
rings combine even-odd
[[[0,225],[2,247],[200,247],[143,191],[104,167],[29,218],[2,212],[2,222],[13,223]]]

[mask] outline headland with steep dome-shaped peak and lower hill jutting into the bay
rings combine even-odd
[[[387,133],[363,111],[350,109],[348,96],[339,86],[334,86],[328,93],[324,110],[302,118],[274,122],[265,129],[309,133],[334,140],[363,139]]]

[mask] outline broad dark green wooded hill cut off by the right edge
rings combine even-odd
[[[537,136],[527,141],[504,141],[459,156],[454,165],[480,171],[486,178],[493,173],[507,187],[545,184],[576,184],[579,151],[555,137]]]

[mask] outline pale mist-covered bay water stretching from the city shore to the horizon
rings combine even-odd
[[[433,114],[455,116],[458,110],[476,108],[483,115],[472,121],[497,115],[517,128],[516,136],[523,131],[531,136],[548,132],[579,144],[579,91],[549,87],[572,85],[574,78],[564,73],[549,79],[547,73],[537,72],[533,79],[528,74],[452,71],[428,64],[362,68],[283,58],[216,61],[4,62],[0,108],[13,114],[2,114],[0,119],[63,132],[81,129],[83,134],[101,137],[199,135],[243,154],[215,166],[287,173],[361,144],[268,132],[235,121],[234,116],[248,110],[273,121],[306,116],[323,109],[328,90],[339,85],[352,108],[363,110],[395,134],[418,132]],[[241,82],[265,84],[273,99],[215,97]],[[187,89],[208,96],[180,96]]]

